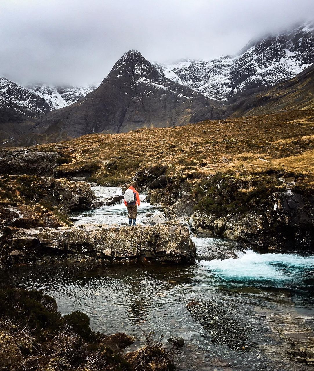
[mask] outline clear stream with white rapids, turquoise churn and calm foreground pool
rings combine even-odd
[[[92,187],[98,200],[121,194],[121,188]],[[160,213],[141,195],[137,223],[146,213]],[[73,213],[76,224],[127,222],[124,204]],[[143,333],[180,336],[185,345],[177,354],[178,370],[311,370],[287,356],[284,336],[311,339],[314,326],[314,255],[239,252],[238,259],[206,260],[211,246],[228,240],[193,236],[203,260],[195,265],[157,263],[85,264],[11,267],[1,281],[55,297],[62,314],[82,311],[95,331],[138,336],[128,349],[142,344]],[[239,324],[252,328],[250,351],[217,345],[186,305],[193,300],[216,301],[232,312]]]

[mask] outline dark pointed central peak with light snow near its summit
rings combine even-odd
[[[33,135],[52,142],[96,132],[178,126],[221,115],[219,103],[167,79],[138,51],[130,50],[98,89],[50,112],[35,125]]]

